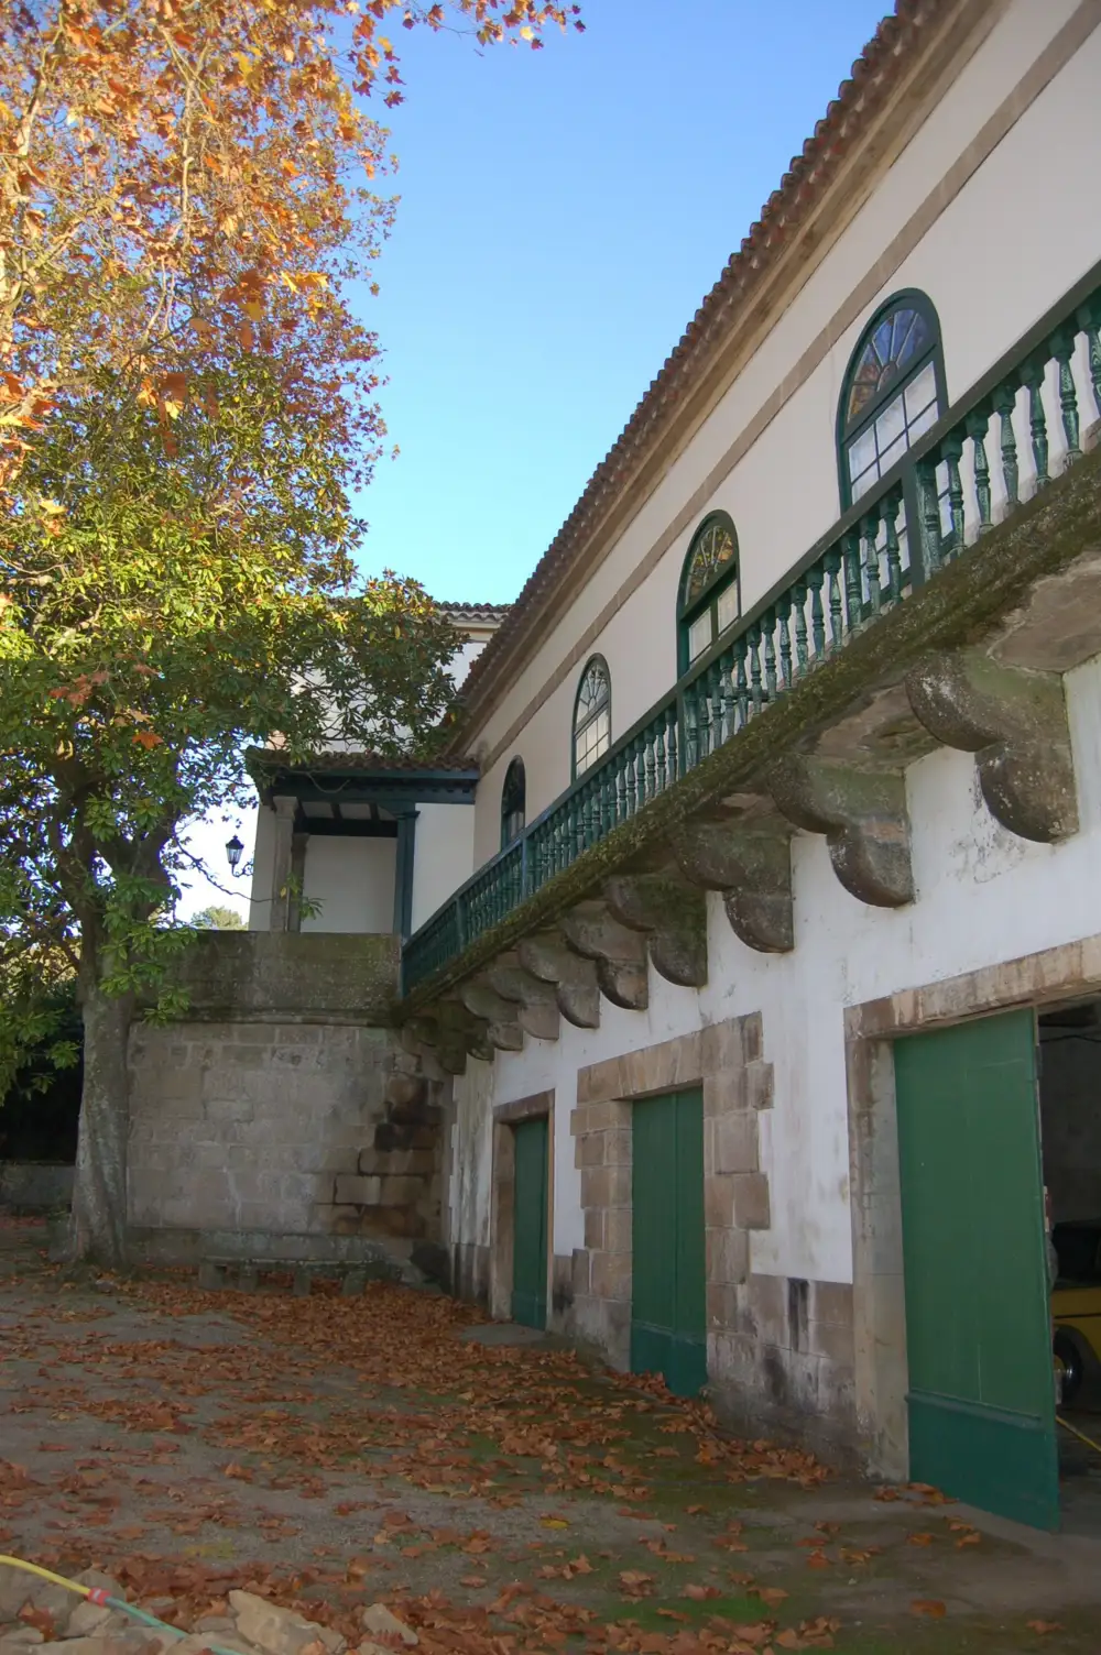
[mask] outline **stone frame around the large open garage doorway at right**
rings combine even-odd
[[[849,1006],[856,1418],[868,1468],[909,1476],[902,1198],[892,1041],[1020,1006],[1101,993],[1101,935]]]

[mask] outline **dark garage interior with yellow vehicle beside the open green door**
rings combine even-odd
[[[1101,1000],[1045,1011],[1038,1036],[1060,1504],[1101,1534]]]

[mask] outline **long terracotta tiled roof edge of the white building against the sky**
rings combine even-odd
[[[695,374],[707,366],[707,357],[712,356],[748,285],[760,276],[773,252],[778,252],[788,238],[793,222],[823,194],[863,127],[891,99],[907,60],[907,48],[950,3],[952,0],[896,0],[894,15],[884,17],[879,23],[853,65],[849,79],[841,83],[838,96],[803,144],[801,154],[791,159],[780,187],[765,202],[740,250],[727,261],[623,434],[593,472],[576,506],[510,606],[507,621],[470,667],[464,695],[469,697],[483,680],[492,679],[498,664],[503,665],[531,631],[543,601],[578,558],[618,482],[656,439],[661,425],[672,417]],[[462,725],[454,740],[455,743],[464,740]]]

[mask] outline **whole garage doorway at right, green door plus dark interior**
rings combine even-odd
[[[1101,998],[894,1046],[911,1476],[1101,1536]]]

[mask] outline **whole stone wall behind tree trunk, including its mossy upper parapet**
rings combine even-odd
[[[215,933],[189,953],[187,1019],[131,1034],[142,1254],[190,1261],[227,1235],[270,1256],[290,1236],[303,1256],[354,1236],[430,1253],[442,1086],[387,1026],[396,958],[391,937],[313,933]]]

